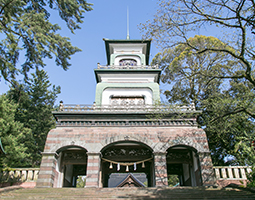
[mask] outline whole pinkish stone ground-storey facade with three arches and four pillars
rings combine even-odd
[[[197,150],[203,185],[212,185],[214,175],[206,134],[195,126],[58,126],[49,132],[38,187],[59,187],[56,184],[56,158],[63,147],[78,146],[87,150],[86,187],[100,187],[100,152],[109,144],[120,141],[139,142],[154,152],[155,186],[167,185],[165,154],[170,147],[182,145]]]

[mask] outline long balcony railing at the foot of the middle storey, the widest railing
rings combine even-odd
[[[194,104],[189,106],[167,105],[86,105],[86,104],[63,104],[60,103],[59,112],[145,112],[145,113],[182,113],[198,112]]]

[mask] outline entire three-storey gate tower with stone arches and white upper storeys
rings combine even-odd
[[[93,105],[60,104],[47,136],[37,187],[108,187],[111,174],[144,173],[149,187],[214,183],[205,132],[193,105],[162,106],[161,69],[149,65],[151,40],[104,39],[107,65],[94,70]]]

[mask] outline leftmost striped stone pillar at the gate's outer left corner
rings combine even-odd
[[[56,153],[42,153],[42,162],[40,166],[40,171],[38,179],[36,182],[36,187],[53,187],[54,179],[57,176],[56,163],[57,154]]]

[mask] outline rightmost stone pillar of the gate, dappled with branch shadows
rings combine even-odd
[[[198,156],[201,169],[202,185],[203,186],[214,185],[216,183],[215,182],[216,179],[210,152],[200,152],[198,153]]]

